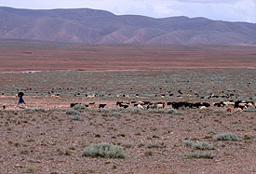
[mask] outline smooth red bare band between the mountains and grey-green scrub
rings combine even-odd
[[[0,46],[0,72],[255,69],[255,50],[254,46]]]

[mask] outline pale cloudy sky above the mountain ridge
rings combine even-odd
[[[187,16],[256,23],[256,0],[0,0],[0,7],[30,9],[93,8],[116,15],[153,18]]]

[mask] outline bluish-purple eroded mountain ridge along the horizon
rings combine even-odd
[[[256,45],[256,24],[205,18],[118,16],[89,8],[0,7],[0,38],[84,44]]]

